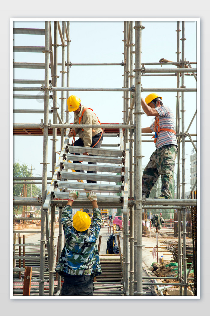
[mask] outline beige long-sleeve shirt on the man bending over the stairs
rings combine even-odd
[[[79,124],[79,118],[82,115],[84,107],[85,106],[81,105],[80,112],[77,115],[75,114],[74,124]],[[99,120],[97,119],[97,116],[93,113],[92,110],[87,109],[81,118],[80,124],[99,125]],[[90,147],[92,144],[92,137],[102,131],[101,128],[86,128],[84,129],[84,131],[82,131],[81,128],[74,128],[74,126],[72,127],[72,129],[76,132],[76,134],[79,134],[79,137],[84,142],[84,147]]]

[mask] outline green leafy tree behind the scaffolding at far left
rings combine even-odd
[[[20,165],[18,162],[15,162],[13,164],[13,177],[14,178],[27,178],[31,177],[31,171],[29,170],[28,166],[26,164]],[[32,175],[33,177],[33,175]],[[16,180],[15,181],[24,181],[24,180]],[[29,180],[30,181],[30,180]],[[14,197],[20,197],[21,192],[23,190],[23,184],[14,184],[13,185],[13,196]],[[41,195],[41,190],[35,185],[32,184],[32,197],[36,197]],[[23,194],[22,194],[23,196]],[[27,197],[31,197],[31,184],[27,184]],[[17,210],[17,206],[14,207]],[[18,208],[18,213],[22,212],[22,206]]]

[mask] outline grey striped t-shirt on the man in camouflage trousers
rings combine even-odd
[[[159,113],[160,128],[168,128],[175,131],[174,114],[169,106],[162,105],[155,108]],[[150,125],[150,129],[154,132],[154,123]],[[157,138],[156,148],[160,148],[163,145],[177,145],[176,135],[168,131],[160,131]]]

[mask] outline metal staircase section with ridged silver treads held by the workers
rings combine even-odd
[[[68,129],[66,135],[68,135]],[[69,137],[66,136],[45,200],[45,209],[49,209],[51,205],[66,205],[71,190],[80,191],[80,196],[75,200],[72,208],[88,206],[92,208],[92,204],[86,197],[86,191],[104,193],[97,194],[99,207],[104,207],[104,205],[107,208],[123,209],[123,207],[127,207],[123,203],[124,186],[127,185],[125,178],[128,178],[128,176],[125,176],[125,173],[128,173],[128,168],[125,168],[125,150],[101,148],[87,148],[85,150],[87,150],[88,156],[78,155],[84,152],[84,148],[70,146]],[[74,153],[77,155],[74,155]],[[95,155],[93,156],[93,154]],[[73,160],[77,161],[77,159],[82,163],[72,162]],[[96,162],[97,165],[87,164],[88,161]],[[85,172],[75,172],[75,170]],[[86,171],[96,171],[98,173],[86,173]],[[87,180],[99,182],[83,182]],[[115,195],[116,193],[119,195]]]

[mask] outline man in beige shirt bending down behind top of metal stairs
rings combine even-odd
[[[88,124],[99,125],[98,117],[93,113],[93,110],[81,104],[81,100],[76,95],[70,95],[67,99],[69,112],[74,112],[74,124]],[[79,135],[79,139],[74,141],[75,136]],[[74,128],[69,131],[69,137],[74,137],[71,146],[80,146],[85,148],[100,148],[103,140],[102,128]],[[83,155],[88,155],[84,150]],[[80,161],[73,161],[74,163],[81,163]],[[96,165],[96,162],[88,161],[88,164]],[[84,170],[75,170],[76,172],[84,172]],[[96,173],[96,171],[87,171],[87,173]],[[97,183],[95,180],[87,180],[87,183]]]

